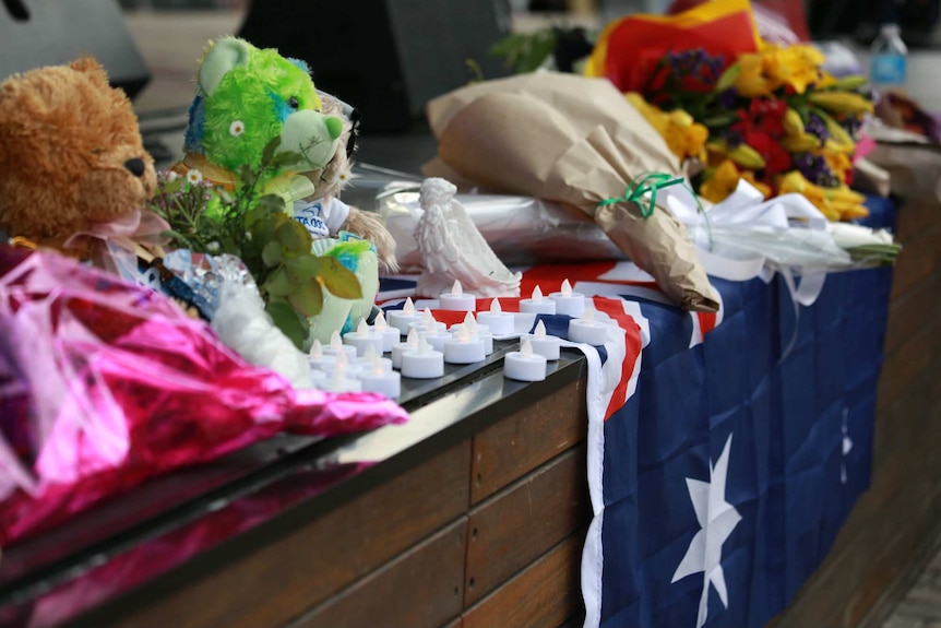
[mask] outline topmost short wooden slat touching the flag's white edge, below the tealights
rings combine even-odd
[[[570,384],[474,437],[470,502],[585,439],[585,382]]]

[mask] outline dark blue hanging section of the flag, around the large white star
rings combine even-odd
[[[797,318],[784,282],[714,280],[725,318],[689,347],[689,313],[643,303],[635,394],[605,424],[601,625],[764,626],[823,560],[869,485],[891,271],[832,274]],[[688,479],[714,482],[740,520],[722,577],[674,580],[701,530]],[[848,440],[847,440],[848,439]],[[704,484],[705,485],[705,484]]]

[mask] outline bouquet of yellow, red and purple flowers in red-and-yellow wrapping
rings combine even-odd
[[[698,163],[693,185],[710,201],[745,179],[853,220],[868,214],[848,186],[872,102],[863,76],[837,80],[824,61],[813,46],[762,40],[748,0],[714,0],[611,23],[585,71],[607,76],[674,154]]]

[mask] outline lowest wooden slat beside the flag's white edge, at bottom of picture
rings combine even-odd
[[[559,626],[582,607],[584,529],[464,613],[463,628]]]

